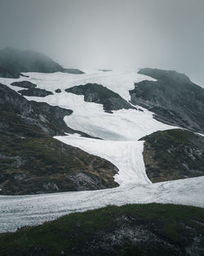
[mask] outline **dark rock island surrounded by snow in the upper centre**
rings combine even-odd
[[[85,85],[74,86],[73,88],[65,89],[65,92],[83,95],[84,101],[87,102],[102,104],[104,111],[108,113],[112,113],[113,110],[135,109],[129,102],[122,99],[118,93],[97,83],[86,83]]]

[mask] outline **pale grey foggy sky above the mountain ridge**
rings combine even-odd
[[[0,0],[0,48],[61,65],[157,67],[204,87],[204,0]]]

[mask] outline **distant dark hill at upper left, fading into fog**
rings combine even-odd
[[[26,72],[82,74],[80,70],[64,69],[42,53],[12,47],[0,51],[0,77],[18,79]]]

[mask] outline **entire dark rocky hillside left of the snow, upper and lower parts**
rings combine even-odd
[[[24,195],[95,190],[118,186],[118,169],[109,161],[66,146],[50,136],[75,132],[64,110],[27,101],[0,84],[0,193]]]

